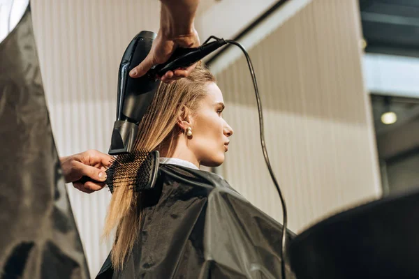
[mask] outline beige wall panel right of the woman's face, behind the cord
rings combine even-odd
[[[242,40],[258,77],[267,151],[294,232],[381,195],[360,38],[358,1],[314,0],[258,44]],[[250,202],[281,220],[244,56],[226,55],[214,68],[221,69],[216,76],[224,115],[235,130],[221,172]]]

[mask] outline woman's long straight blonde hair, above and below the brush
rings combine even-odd
[[[162,82],[139,124],[136,148],[145,148],[149,151],[159,150],[163,145],[168,146],[168,150],[174,148],[172,140],[182,133],[177,127],[178,116],[185,116],[182,115],[185,106],[193,114],[198,102],[206,95],[205,84],[208,82],[215,82],[215,78],[200,63],[188,77],[173,84]],[[142,210],[139,201],[147,197],[144,193],[134,193],[128,187],[120,186],[114,189],[104,236],[109,236],[112,230],[117,228],[111,261],[114,269],[120,270],[123,269],[124,261],[140,231]]]

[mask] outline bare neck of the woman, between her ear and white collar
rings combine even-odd
[[[199,168],[200,162],[191,149],[189,149],[188,142],[189,140],[186,138],[186,135],[180,133],[172,140],[172,150],[169,150],[170,143],[163,144],[163,146],[161,146],[160,156],[186,160]]]

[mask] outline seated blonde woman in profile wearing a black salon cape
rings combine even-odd
[[[115,243],[97,278],[281,278],[281,225],[199,169],[224,161],[224,107],[201,65],[159,86],[136,144],[159,151],[159,177],[142,193],[115,188],[105,225]]]

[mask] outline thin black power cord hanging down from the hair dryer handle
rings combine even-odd
[[[281,199],[281,206],[282,206],[282,238],[281,238],[281,254],[282,254],[282,260],[281,260],[281,275],[283,279],[286,279],[286,226],[288,223],[287,218],[287,212],[286,212],[286,204],[284,200],[284,196],[282,195],[281,189],[279,188],[279,184],[277,182],[277,179],[275,177],[274,172],[272,171],[272,167],[270,165],[269,156],[267,155],[266,151],[266,144],[265,144],[265,131],[263,126],[263,112],[262,112],[262,105],[260,104],[260,96],[259,96],[259,89],[258,89],[258,82],[256,81],[256,75],[255,70],[253,69],[253,64],[251,63],[251,59],[249,54],[247,53],[247,50],[241,45],[240,43],[237,43],[235,40],[223,40],[221,38],[216,38],[215,36],[210,36],[207,40],[205,40],[205,43],[207,43],[210,39],[214,38],[215,40],[222,40],[226,43],[230,43],[232,45],[237,45],[237,47],[240,47],[240,50],[244,53],[247,60],[247,65],[249,66],[251,79],[253,81],[253,88],[255,89],[256,93],[256,103],[258,104],[258,113],[259,113],[259,128],[260,128],[260,144],[262,146],[262,152],[263,157],[265,158],[265,163],[267,165],[267,169],[269,169],[270,176],[272,178],[272,181],[275,184],[275,187],[277,188],[279,198]],[[204,44],[205,44],[204,43]]]

